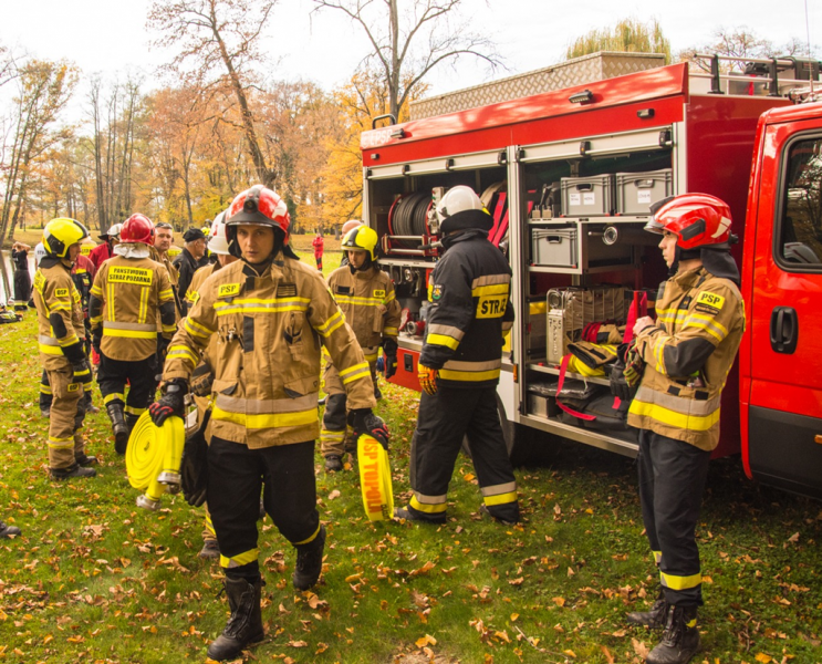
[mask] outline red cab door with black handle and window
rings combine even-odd
[[[767,125],[763,138],[751,179],[756,228],[746,229],[755,248],[746,259],[752,280],[743,460],[751,477],[820,498],[822,117]],[[745,393],[743,380],[743,401]]]

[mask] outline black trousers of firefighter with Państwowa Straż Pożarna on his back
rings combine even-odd
[[[103,403],[125,406],[125,414],[133,424],[154,400],[157,390],[157,355],[145,360],[112,360],[100,354],[97,383],[103,394]],[[126,383],[129,385],[125,395]]]

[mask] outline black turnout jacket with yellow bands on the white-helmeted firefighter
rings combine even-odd
[[[434,268],[426,339],[419,362],[439,383],[489,387],[499,382],[502,334],[513,324],[511,268],[481,230],[467,230]]]

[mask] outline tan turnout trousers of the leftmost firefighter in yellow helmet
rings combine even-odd
[[[73,382],[71,365],[65,369],[45,372],[51,385],[52,403],[49,417],[49,467],[52,470],[67,470],[74,467],[75,455],[82,455],[83,385]]]

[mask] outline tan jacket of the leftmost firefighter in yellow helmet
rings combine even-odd
[[[85,360],[83,309],[70,268],[46,256],[34,273],[38,346],[45,371],[59,371]]]

